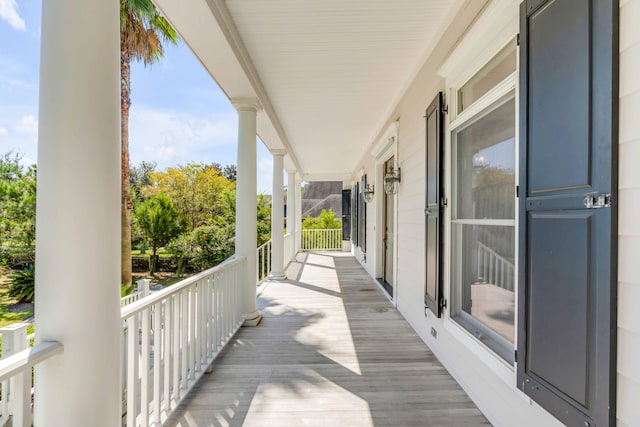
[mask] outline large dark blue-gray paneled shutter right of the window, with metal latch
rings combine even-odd
[[[567,425],[615,425],[618,3],[520,19],[518,387]]]

